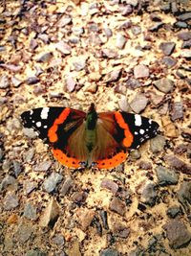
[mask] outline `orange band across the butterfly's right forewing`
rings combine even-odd
[[[124,121],[122,115],[120,114],[120,112],[115,112],[115,117],[116,117],[118,126],[120,128],[124,129],[125,138],[122,141],[123,146],[126,147],[126,148],[129,148],[132,145],[133,141],[134,141],[134,136],[131,133],[128,125],[125,123],[125,121]]]

